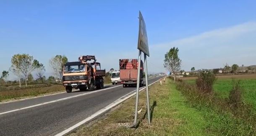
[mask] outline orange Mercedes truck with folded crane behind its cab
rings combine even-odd
[[[96,62],[95,56],[80,56],[78,62],[67,62],[63,68],[63,85],[66,92],[72,89],[94,90],[104,87],[103,77],[105,70],[101,70],[100,63]]]

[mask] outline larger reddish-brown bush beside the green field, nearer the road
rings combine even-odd
[[[200,76],[196,79],[196,86],[199,90],[209,93],[213,90],[213,84],[217,80],[213,72],[201,72]]]

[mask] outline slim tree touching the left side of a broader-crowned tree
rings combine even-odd
[[[15,74],[16,76],[18,76],[19,85],[21,87],[21,54],[13,55],[10,62],[10,71],[13,72],[13,74]]]

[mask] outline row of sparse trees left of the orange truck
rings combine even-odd
[[[55,77],[50,76],[48,80],[53,80],[57,82],[58,79],[62,78],[62,71],[64,64],[68,62],[68,58],[65,55],[56,55],[49,60],[49,65],[52,68],[53,72],[55,73]],[[41,80],[44,83],[46,77],[45,74],[45,67],[44,64],[40,63],[37,59],[34,59],[33,56],[29,54],[15,54],[11,58],[11,66],[9,70],[4,70],[2,72],[2,76],[0,77],[1,80],[5,81],[7,84],[7,79],[9,76],[9,72],[12,72],[18,77],[19,86],[21,87],[21,80],[25,80],[25,85],[27,86],[27,80],[32,76],[32,72],[38,77],[38,80]],[[33,76],[32,76],[33,78]]]

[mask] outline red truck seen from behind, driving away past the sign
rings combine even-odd
[[[138,75],[138,59],[119,59],[120,66],[120,80],[123,87],[137,84]],[[140,87],[144,85],[143,82],[143,62],[141,61],[140,67]]]

